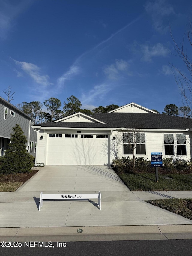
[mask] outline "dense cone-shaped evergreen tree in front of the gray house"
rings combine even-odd
[[[18,124],[12,130],[9,148],[1,158],[0,173],[29,173],[33,166],[33,156],[26,150],[27,137]]]

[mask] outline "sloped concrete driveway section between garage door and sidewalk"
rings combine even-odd
[[[130,191],[106,165],[47,165],[17,192]]]

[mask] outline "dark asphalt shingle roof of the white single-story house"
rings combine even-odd
[[[82,128],[138,128],[138,129],[186,129],[192,128],[192,119],[154,113],[102,113],[92,116],[101,123],[47,122],[43,127],[82,127]]]

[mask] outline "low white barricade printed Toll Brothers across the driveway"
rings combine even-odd
[[[40,201],[39,201],[39,211],[43,205],[44,199],[93,199],[98,198],[98,206],[101,210],[101,192],[98,194],[43,194],[41,192]]]

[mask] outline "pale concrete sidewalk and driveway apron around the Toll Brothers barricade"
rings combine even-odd
[[[76,191],[76,193],[98,191]],[[177,192],[177,196],[174,193]],[[97,200],[45,200],[38,211],[40,192],[1,192],[0,227],[77,227],[125,225],[186,225],[192,221],[153,206],[143,200],[179,198],[180,191],[101,191],[101,211]],[[181,191],[181,197],[192,197]],[[74,191],[67,191],[67,194]],[[66,194],[55,191],[52,194]],[[169,195],[169,197],[168,197]]]

